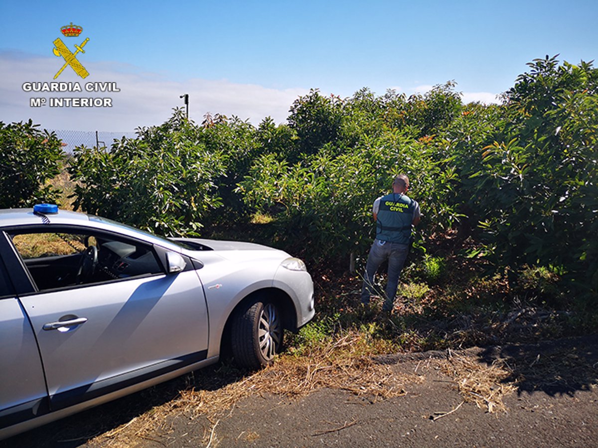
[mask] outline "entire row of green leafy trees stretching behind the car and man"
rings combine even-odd
[[[455,87],[411,97],[364,88],[347,99],[312,90],[286,124],[258,127],[222,115],[196,125],[177,110],[110,151],[78,148],[74,205],[166,235],[254,239],[346,265],[373,238],[374,198],[407,173],[422,249],[458,229],[481,244],[469,256],[496,271],[537,266],[596,297],[598,70],[534,60],[501,105],[463,105]],[[56,172],[55,136],[29,122],[2,125],[2,139],[4,206],[39,197]],[[8,180],[17,175],[30,185],[22,195]]]

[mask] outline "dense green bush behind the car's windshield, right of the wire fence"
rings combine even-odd
[[[197,234],[221,205],[214,179],[224,174],[222,155],[208,152],[182,111],[138,129],[136,139],[115,141],[111,151],[75,149],[69,172],[78,182],[75,209],[167,236]]]

